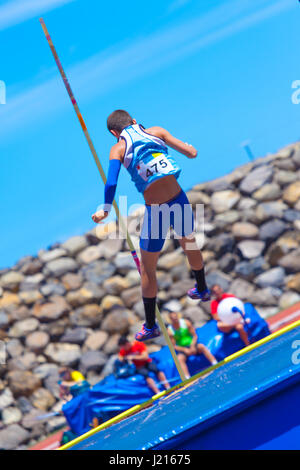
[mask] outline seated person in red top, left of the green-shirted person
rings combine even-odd
[[[119,360],[130,361],[136,367],[136,373],[142,375],[148,387],[155,393],[159,393],[159,389],[155,384],[155,381],[150,377],[150,372],[153,372],[160,382],[164,384],[166,390],[170,388],[165,374],[160,371],[157,365],[149,357],[147,347],[144,343],[139,341],[130,342],[126,336],[121,336],[119,339]]]

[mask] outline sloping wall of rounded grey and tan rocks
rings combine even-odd
[[[205,207],[205,238],[197,238],[209,285],[251,301],[264,318],[300,300],[299,143],[196,185],[188,196],[194,208]],[[136,247],[141,217],[128,219]],[[202,224],[197,219],[198,230]],[[62,416],[36,419],[61,409],[59,368],[98,382],[111,372],[120,335],[140,327],[139,275],[126,241],[109,237],[114,229],[98,227],[0,271],[1,449],[26,448],[62,426]],[[209,305],[186,297],[194,281],[177,240],[165,243],[158,282],[162,312],[172,304],[196,327],[210,318]]]

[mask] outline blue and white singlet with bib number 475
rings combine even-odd
[[[133,124],[123,129],[120,139],[126,143],[123,165],[139,192],[144,193],[151,183],[166,175],[175,178],[180,175],[181,169],[168,155],[164,141],[145,132],[141,125]]]

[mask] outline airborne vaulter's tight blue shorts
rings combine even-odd
[[[141,249],[161,251],[170,227],[173,227],[177,238],[188,237],[194,231],[193,211],[184,191],[163,204],[146,204]]]

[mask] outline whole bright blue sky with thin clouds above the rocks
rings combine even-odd
[[[127,109],[192,143],[181,185],[300,138],[296,0],[0,2],[0,268],[85,233],[103,184],[43,35],[43,17],[105,170],[106,117]],[[142,203],[122,169],[117,196]]]

